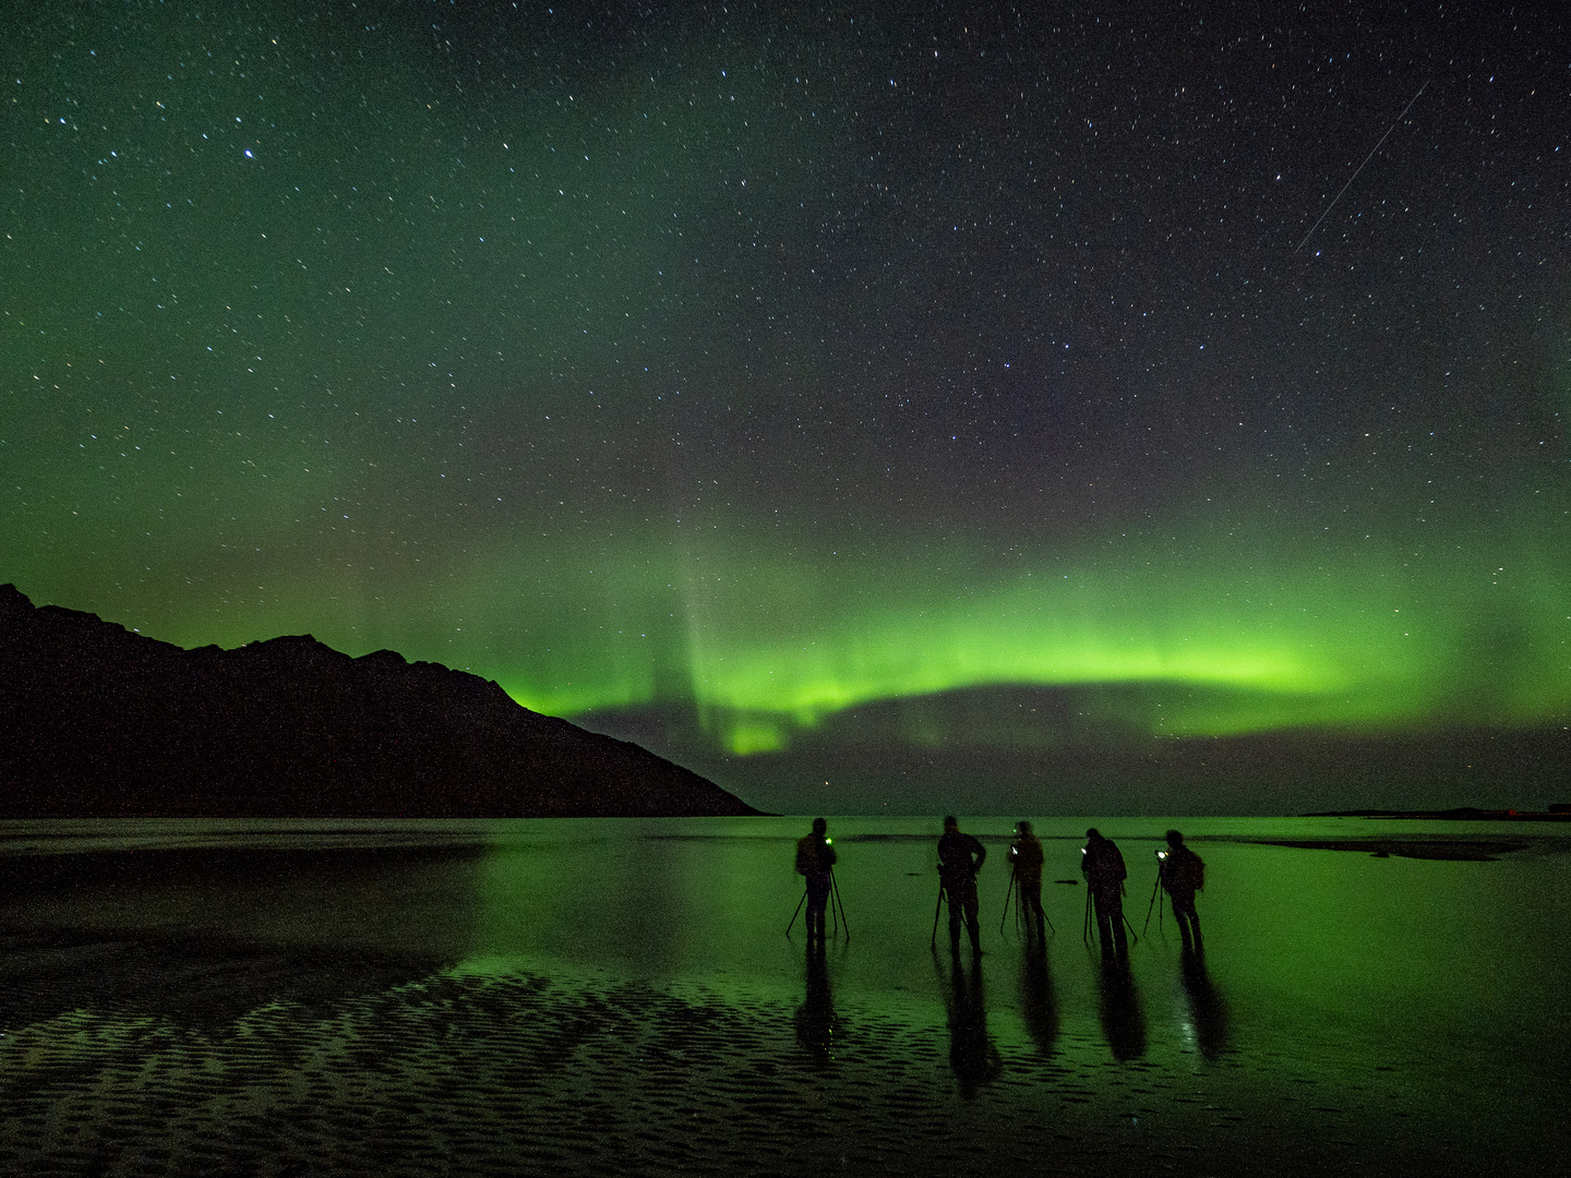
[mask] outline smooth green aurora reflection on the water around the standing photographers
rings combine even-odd
[[[1130,869],[1125,913],[1142,928],[1169,825],[1207,859],[1200,919],[1208,980],[1246,1041],[1295,1054],[1430,1055],[1458,1073],[1464,1055],[1540,1043],[1560,1010],[1568,961],[1571,856],[1536,839],[1497,862],[1371,858],[1247,839],[1521,839],[1522,828],[1356,820],[1042,820],[1043,903],[1057,927],[1046,953],[1067,1032],[1101,1038],[1098,971],[1081,942],[1086,889],[1078,848],[1089,823],[1120,842]],[[990,858],[979,878],[983,969],[994,1032],[1031,1041],[1026,958],[1012,928],[999,933],[1009,887],[1010,818],[963,820]],[[727,1001],[801,1001],[803,936],[784,935],[801,880],[792,870],[806,820],[597,821],[492,828],[478,869],[474,952],[467,971],[591,971],[701,986]],[[938,821],[831,820],[836,876],[853,938],[828,958],[834,1001],[892,1018],[939,1016],[930,935],[938,897]],[[944,928],[939,922],[939,944]],[[1133,952],[1133,982],[1150,1021],[1150,1054],[1197,1051],[1196,993],[1178,968],[1170,911],[1159,902]]]

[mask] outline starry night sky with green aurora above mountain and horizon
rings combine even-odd
[[[0,581],[778,809],[1562,730],[1571,27],[1455,8],[19,6]]]

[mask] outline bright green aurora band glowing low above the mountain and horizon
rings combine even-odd
[[[358,537],[328,532],[316,551],[280,559],[275,540],[211,569],[206,614],[132,558],[113,592],[55,595],[182,646],[309,630],[350,653],[391,647],[569,718],[690,708],[732,754],[782,749],[847,708],[998,685],[1141,686],[1081,704],[1092,724],[1152,735],[1547,726],[1571,712],[1563,526],[1538,512],[1400,543],[1280,525],[1197,539],[1191,523],[999,558],[698,523],[691,540],[605,528],[424,558],[366,543],[363,564],[346,559]],[[36,578],[46,597],[60,580]]]

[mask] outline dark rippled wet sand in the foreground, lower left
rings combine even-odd
[[[1467,1169],[1408,1120],[1390,1073],[1422,1062],[1382,1065],[1357,1107],[1219,1027],[1213,1051],[1152,1063],[1115,983],[1100,1024],[1038,1012],[1035,1041],[994,1043],[977,974],[947,960],[917,961],[947,999],[924,1021],[823,993],[723,1001],[245,946],[3,949],[3,1173]],[[982,986],[1013,983],[994,972],[985,958]]]

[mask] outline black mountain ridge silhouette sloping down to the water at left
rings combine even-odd
[[[0,586],[0,815],[757,814],[496,683],[309,635],[184,650]]]

